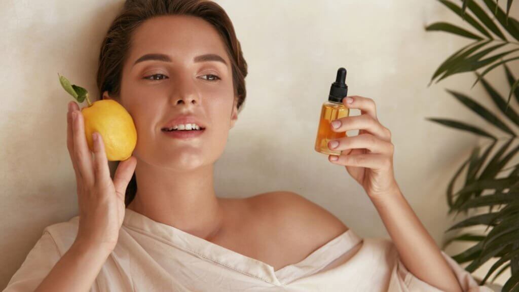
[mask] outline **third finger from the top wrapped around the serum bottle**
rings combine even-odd
[[[361,135],[352,136],[352,137],[333,139],[328,142],[328,148],[333,149],[333,150],[347,150],[347,149],[364,148],[364,149],[369,150],[371,153],[377,153],[377,154],[392,154],[393,153],[393,144],[391,142],[381,140],[371,134],[361,134]]]

